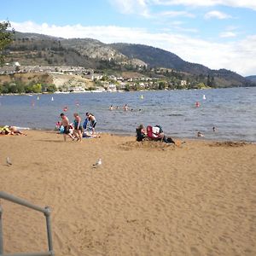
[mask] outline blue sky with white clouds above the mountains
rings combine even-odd
[[[256,75],[256,0],[8,0],[0,8],[19,32],[146,44]]]

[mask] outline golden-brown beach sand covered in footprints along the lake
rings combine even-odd
[[[256,144],[26,133],[0,137],[0,190],[51,207],[55,255],[256,255]],[[0,202],[4,252],[46,251],[44,214]]]

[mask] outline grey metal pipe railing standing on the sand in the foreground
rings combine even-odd
[[[2,215],[3,208],[0,205],[0,256],[54,256],[53,244],[52,244],[52,235],[51,235],[51,225],[50,225],[50,209],[49,207],[38,207],[33,205],[32,203],[15,197],[14,195],[9,195],[3,191],[0,191],[0,199],[3,198],[7,201],[12,201],[15,204],[19,204],[23,207],[31,208],[32,210],[43,212],[46,218],[46,229],[47,229],[47,238],[48,238],[48,252],[45,253],[7,253],[3,254],[3,223],[2,223]]]

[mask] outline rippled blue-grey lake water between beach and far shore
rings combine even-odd
[[[128,112],[122,110],[125,103]],[[110,105],[119,109],[109,111]],[[209,139],[256,142],[256,87],[0,96],[0,124],[53,129],[65,106],[70,120],[74,112],[83,118],[94,113],[97,131],[135,134],[139,124],[162,125],[173,137],[195,137],[201,131]]]

